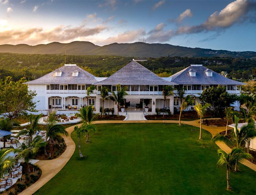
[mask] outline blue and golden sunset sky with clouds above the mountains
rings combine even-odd
[[[0,44],[144,41],[256,51],[255,35],[255,0],[0,0]]]

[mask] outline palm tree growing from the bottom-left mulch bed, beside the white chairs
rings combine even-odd
[[[14,151],[19,152],[17,157],[27,163],[27,171],[30,173],[29,161],[34,158],[34,155],[40,147],[44,147],[46,145],[46,142],[40,136],[34,137],[31,142],[25,141],[20,143],[19,140],[17,141],[18,147]]]

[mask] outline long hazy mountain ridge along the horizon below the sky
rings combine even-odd
[[[256,57],[255,51],[227,51],[203,48],[188,48],[171,44],[160,43],[112,43],[98,46],[88,41],[73,41],[71,43],[52,42],[49,44],[27,45],[27,44],[3,44],[0,52],[20,54],[64,54],[67,55],[116,55],[127,57]]]

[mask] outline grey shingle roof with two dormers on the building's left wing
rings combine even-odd
[[[61,76],[55,76],[55,72],[62,72]],[[73,76],[73,72],[79,72]],[[64,65],[51,73],[38,79],[28,81],[26,84],[93,84],[98,82],[95,76],[78,66]]]

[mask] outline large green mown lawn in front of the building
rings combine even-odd
[[[230,174],[216,168],[211,135],[177,124],[102,124],[83,139],[67,165],[35,194],[256,194],[256,172],[241,166]],[[191,131],[197,129],[197,131]],[[77,143],[76,134],[72,133]]]

